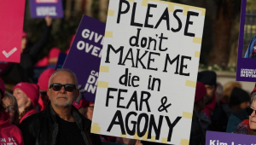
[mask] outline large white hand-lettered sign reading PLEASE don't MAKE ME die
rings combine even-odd
[[[189,143],[206,9],[110,0],[91,132]]]

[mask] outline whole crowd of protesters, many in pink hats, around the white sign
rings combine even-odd
[[[162,144],[90,133],[94,103],[79,97],[72,71],[55,70],[61,50],[53,47],[37,60],[50,35],[52,20],[45,22],[35,44],[22,33],[20,63],[0,63],[0,144]],[[36,81],[33,67],[44,67]],[[6,84],[15,85],[7,90]],[[256,87],[247,92],[238,82],[219,84],[213,71],[198,73],[189,144],[204,145],[206,131],[256,135],[255,101]]]

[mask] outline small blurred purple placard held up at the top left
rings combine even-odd
[[[30,14],[32,18],[62,18],[62,0],[30,0]]]

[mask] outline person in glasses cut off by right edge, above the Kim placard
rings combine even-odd
[[[251,94],[251,106],[249,107],[249,119],[245,119],[239,124],[234,133],[245,135],[256,135],[256,92]]]

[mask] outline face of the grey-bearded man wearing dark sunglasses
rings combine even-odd
[[[75,84],[73,75],[64,71],[55,73],[51,79],[50,84]],[[71,107],[74,100],[79,95],[79,90],[74,89],[72,92],[67,91],[64,87],[59,91],[55,91],[52,88],[47,90],[51,105],[53,107]]]

